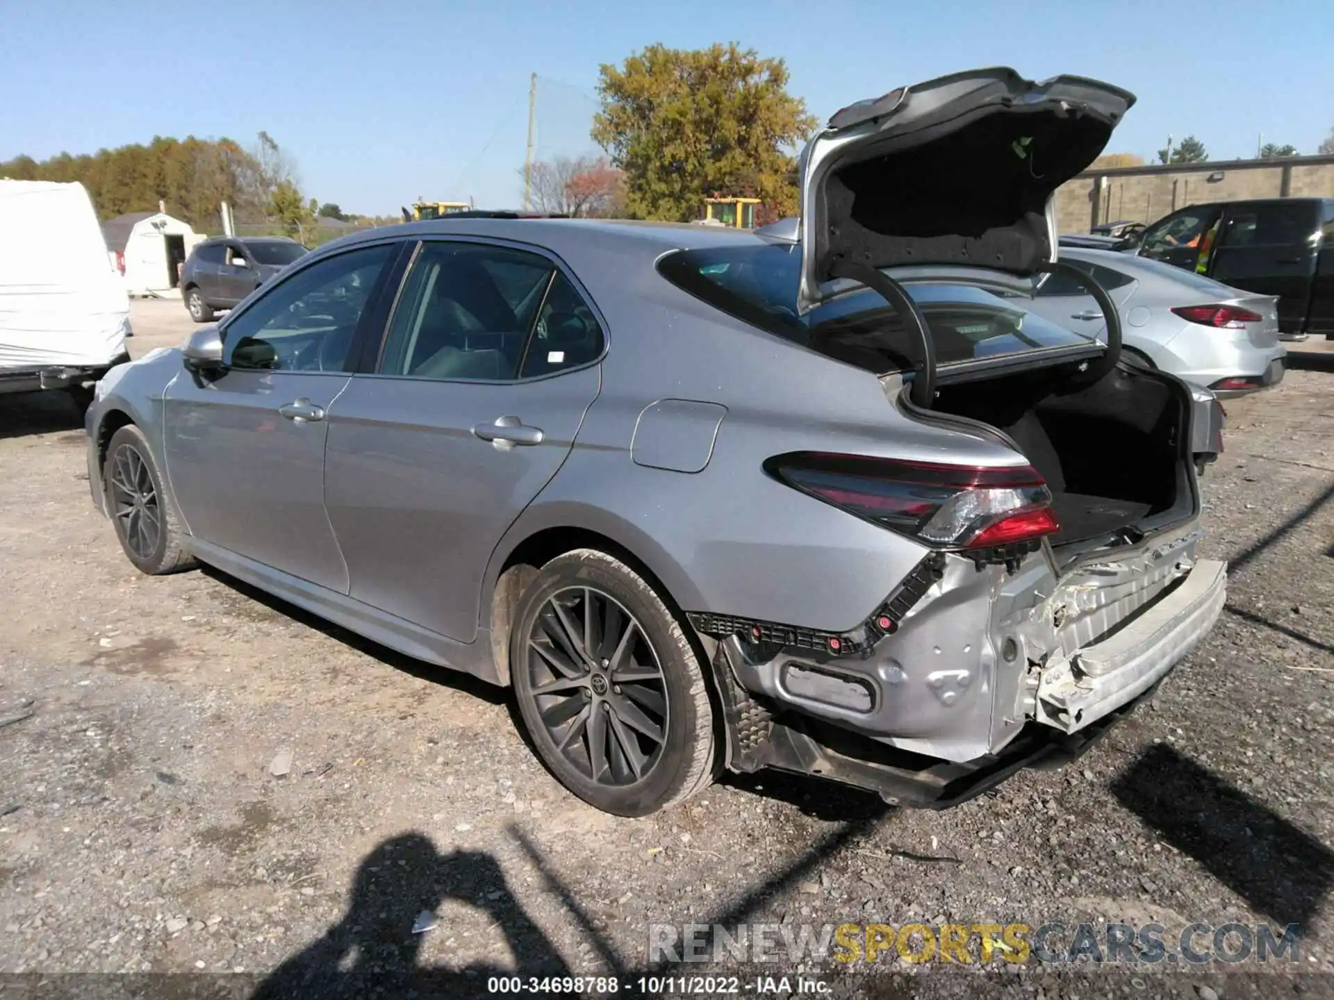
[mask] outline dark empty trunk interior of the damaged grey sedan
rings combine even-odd
[[[947,384],[932,412],[1019,447],[1051,489],[1058,548],[1134,541],[1195,511],[1189,400],[1151,372],[1114,368],[1083,388],[1069,368]]]

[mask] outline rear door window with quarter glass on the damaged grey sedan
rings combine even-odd
[[[592,312],[547,257],[480,243],[426,243],[394,312],[379,372],[511,381],[600,352]]]

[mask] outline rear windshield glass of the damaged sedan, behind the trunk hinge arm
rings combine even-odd
[[[800,261],[795,247],[730,245],[678,251],[658,269],[679,288],[770,333],[878,375],[906,369],[916,355],[912,328],[876,292],[851,291],[798,316]],[[931,329],[936,364],[1091,343],[1014,299],[979,288],[907,285],[907,291]]]

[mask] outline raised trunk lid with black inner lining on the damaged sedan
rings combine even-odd
[[[1038,272],[1057,248],[1053,192],[1134,101],[1097,80],[992,68],[843,108],[802,153],[800,309],[839,263]]]

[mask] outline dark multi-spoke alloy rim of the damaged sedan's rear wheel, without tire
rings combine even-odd
[[[542,725],[582,775],[632,785],[662,759],[670,704],[662,664],[626,608],[594,587],[542,605],[527,641]]]

